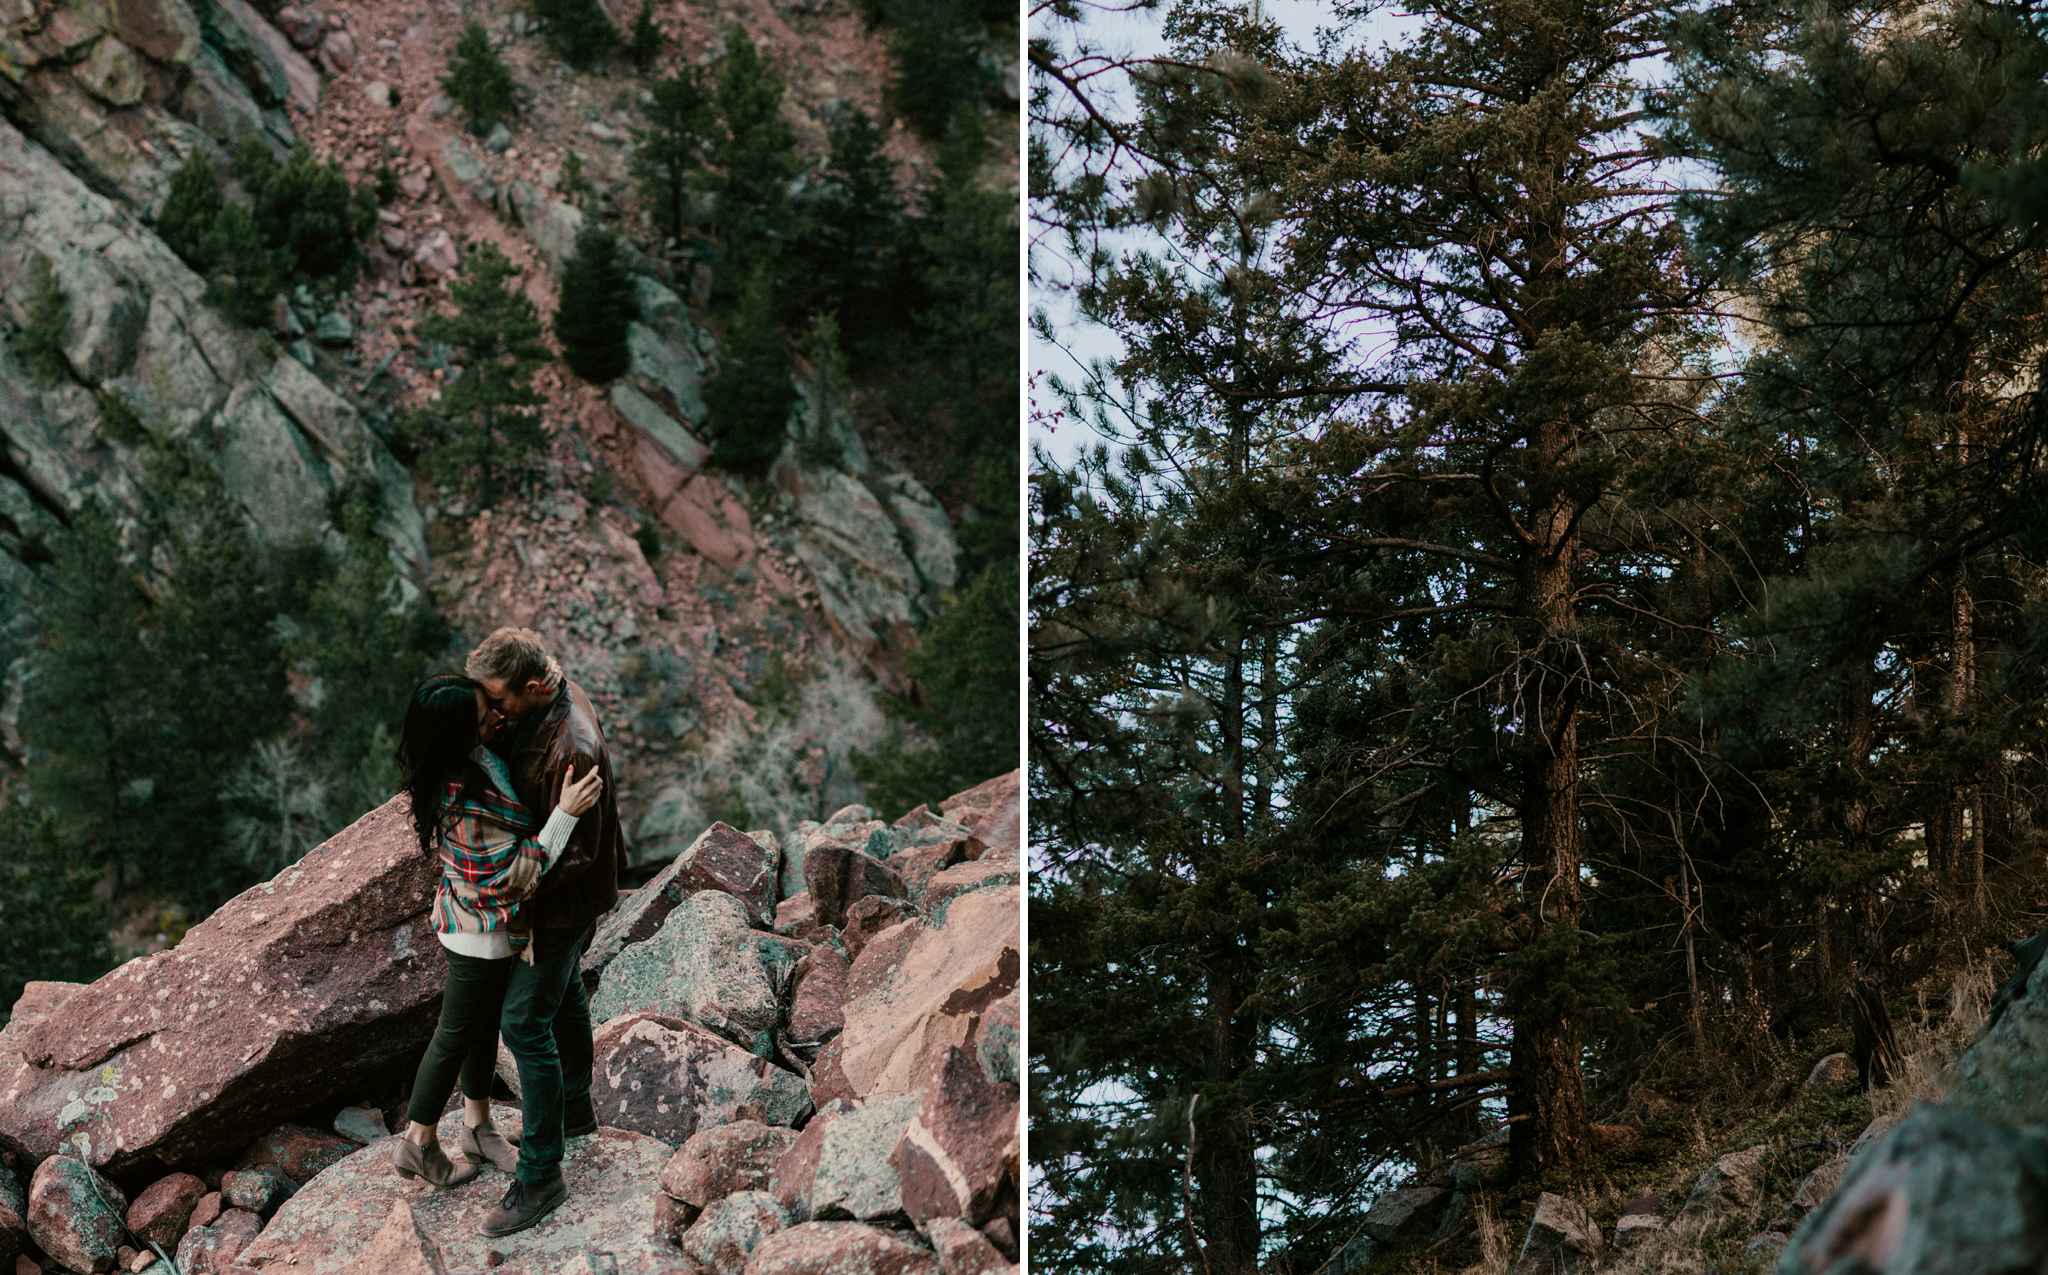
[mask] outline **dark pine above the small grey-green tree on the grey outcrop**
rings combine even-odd
[[[872,340],[893,319],[903,227],[903,192],[883,131],[858,106],[831,127],[831,160],[817,196],[809,256],[821,307],[860,317],[856,342]]]

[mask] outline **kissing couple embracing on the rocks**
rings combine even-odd
[[[420,684],[399,743],[420,851],[440,862],[434,933],[449,988],[391,1169],[455,1187],[489,1160],[512,1185],[481,1234],[504,1236],[567,1199],[563,1144],[598,1128],[578,966],[592,923],[618,900],[625,855],[598,718],[541,634],[500,628],[465,667]],[[500,1034],[518,1062],[516,1148],[492,1128]],[[457,1083],[461,1169],[434,1132]]]

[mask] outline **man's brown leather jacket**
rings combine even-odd
[[[512,745],[512,788],[528,810],[545,812],[561,800],[563,774],[590,774],[596,765],[604,776],[604,792],[575,821],[561,860],[541,878],[526,915],[547,929],[582,929],[618,903],[618,870],[627,862],[625,837],[618,831],[618,786],[612,784],[612,759],[604,751],[604,731],[590,708],[584,688],[563,677],[561,690],[537,708],[537,722],[520,722]]]

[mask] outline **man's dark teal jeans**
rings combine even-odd
[[[590,1001],[578,972],[580,929],[532,931],[532,964],[512,962],[498,1029],[518,1060],[520,1113],[518,1181],[545,1183],[561,1169],[563,1111],[590,1109]]]

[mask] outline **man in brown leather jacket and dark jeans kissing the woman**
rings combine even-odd
[[[592,923],[618,900],[625,843],[604,731],[584,688],[561,673],[541,634],[500,628],[469,653],[467,673],[508,718],[492,749],[510,763],[512,786],[528,810],[553,810],[571,767],[590,774],[596,765],[604,778],[598,804],[575,823],[561,860],[526,903],[530,964],[514,962],[506,986],[500,1036],[518,1062],[524,1132],[512,1185],[479,1228],[485,1236],[506,1236],[569,1197],[563,1142],[598,1128],[590,1105],[590,1003],[578,966]]]

